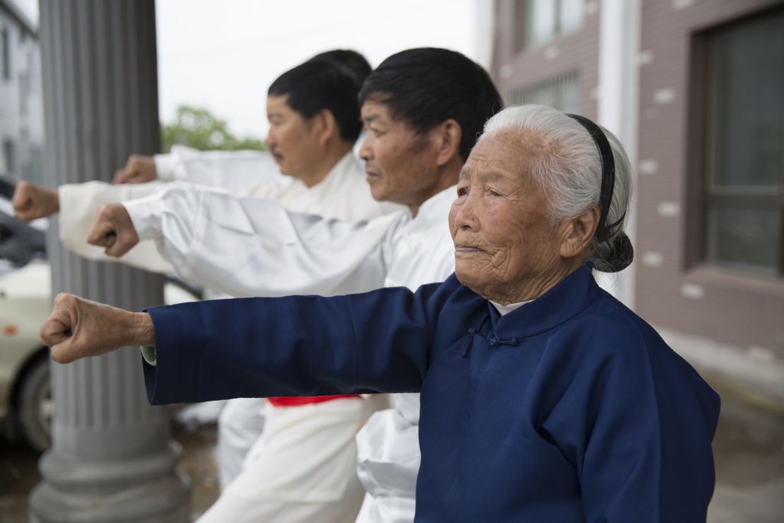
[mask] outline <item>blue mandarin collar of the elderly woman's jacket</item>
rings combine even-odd
[[[600,295],[601,289],[593,279],[590,266],[583,265],[553,289],[509,314],[499,316],[490,302],[488,308],[492,309],[492,325],[499,336],[527,338],[574,318]]]

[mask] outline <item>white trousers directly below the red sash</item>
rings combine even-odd
[[[371,409],[362,398],[267,404],[263,434],[241,474],[198,523],[354,521],[365,494],[354,435]]]

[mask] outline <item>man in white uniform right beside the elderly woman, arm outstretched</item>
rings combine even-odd
[[[454,267],[446,225],[453,186],[485,120],[501,108],[499,95],[465,56],[411,49],[373,71],[360,100],[360,156],[373,197],[408,212],[346,223],[175,185],[107,205],[89,241],[123,256],[140,240],[154,240],[183,278],[234,295],[416,289],[445,279]],[[418,398],[401,394],[358,434],[358,472],[368,492],[358,521],[413,520],[418,420]]]

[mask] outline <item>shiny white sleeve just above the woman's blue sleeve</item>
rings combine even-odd
[[[278,202],[167,183],[123,202],[181,277],[231,296],[324,296],[383,286],[384,252],[405,212],[343,222],[287,212]]]

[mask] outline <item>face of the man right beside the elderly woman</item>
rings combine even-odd
[[[379,202],[419,205],[434,194],[437,151],[431,137],[416,133],[393,119],[384,104],[362,104],[365,140],[359,156],[365,160],[366,180]]]

